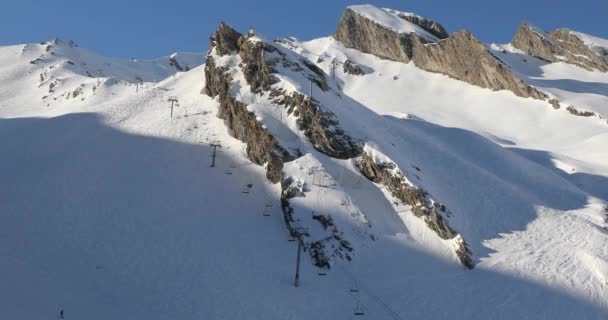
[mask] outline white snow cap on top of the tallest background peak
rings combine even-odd
[[[399,11],[381,9],[370,4],[349,6],[348,9],[397,33],[415,33],[431,42],[439,41],[420,26],[400,18]]]

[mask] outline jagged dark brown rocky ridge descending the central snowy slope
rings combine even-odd
[[[279,82],[275,74],[279,73],[279,70],[288,70],[303,75],[319,90],[328,91],[330,87],[324,72],[300,55],[272,42],[260,40],[252,34],[240,34],[222,23],[210,38],[204,92],[211,97],[218,97],[220,103],[218,117],[224,119],[234,137],[247,144],[247,156],[254,163],[266,167],[267,178],[271,182],[281,182],[281,206],[285,224],[292,236],[303,239],[305,250],[309,252],[315,265],[319,268],[329,268],[330,261],[334,257],[350,260],[353,247],[344,238],[339,227],[333,223],[331,216],[313,217],[322,225],[325,232],[324,236],[315,239],[300,230],[295,223],[294,216],[297,212],[294,212],[290,200],[304,197],[307,188],[301,181],[286,175],[283,166],[297,159],[301,154],[282,146],[256,119],[254,112],[248,110],[247,103],[240,101],[234,93],[231,93],[233,75],[221,62],[227,56],[240,58],[238,69],[250,86],[251,92],[267,97],[273,105],[284,108],[288,115],[294,116],[298,129],[304,133],[316,150],[338,159],[361,159],[361,157],[367,159],[363,153],[363,143],[341,129],[336,116],[327,111],[319,101],[300,92],[274,86]],[[382,170],[375,164],[367,163],[359,166],[359,169],[366,178],[374,182],[377,182],[378,176],[385,177],[377,174]],[[393,182],[382,180],[379,183],[397,186]],[[403,184],[391,190],[406,204],[413,205],[414,202],[420,202],[421,206],[413,206],[414,214],[423,219],[439,237],[442,239],[460,237],[428,200],[428,194],[415,192],[419,189],[406,187]],[[409,196],[401,197],[402,195]],[[455,248],[457,256],[463,265],[472,268],[473,263],[466,243],[463,240],[459,243],[461,244]]]

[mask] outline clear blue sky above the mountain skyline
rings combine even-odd
[[[521,21],[608,38],[608,0],[2,0],[0,45],[73,39],[100,54],[152,58],[207,49],[220,21],[267,37],[330,35],[344,8],[371,3],[415,12],[449,32],[508,42]]]

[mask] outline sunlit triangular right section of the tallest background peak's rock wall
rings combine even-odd
[[[432,45],[418,41],[414,44],[413,62],[421,69],[443,73],[482,88],[510,90],[520,97],[547,97],[513,75],[469,31],[457,31]]]

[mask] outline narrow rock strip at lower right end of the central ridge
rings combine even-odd
[[[395,174],[393,163],[376,163],[371,156],[363,153],[357,165],[365,177],[386,186],[395,198],[411,206],[414,215],[423,219],[426,225],[440,238],[446,240],[457,238],[458,247],[455,251],[460,262],[469,269],[475,266],[464,239],[448,225],[439,213],[440,210],[446,210],[445,206],[431,203],[428,199],[428,193],[408,184],[401,172]]]

